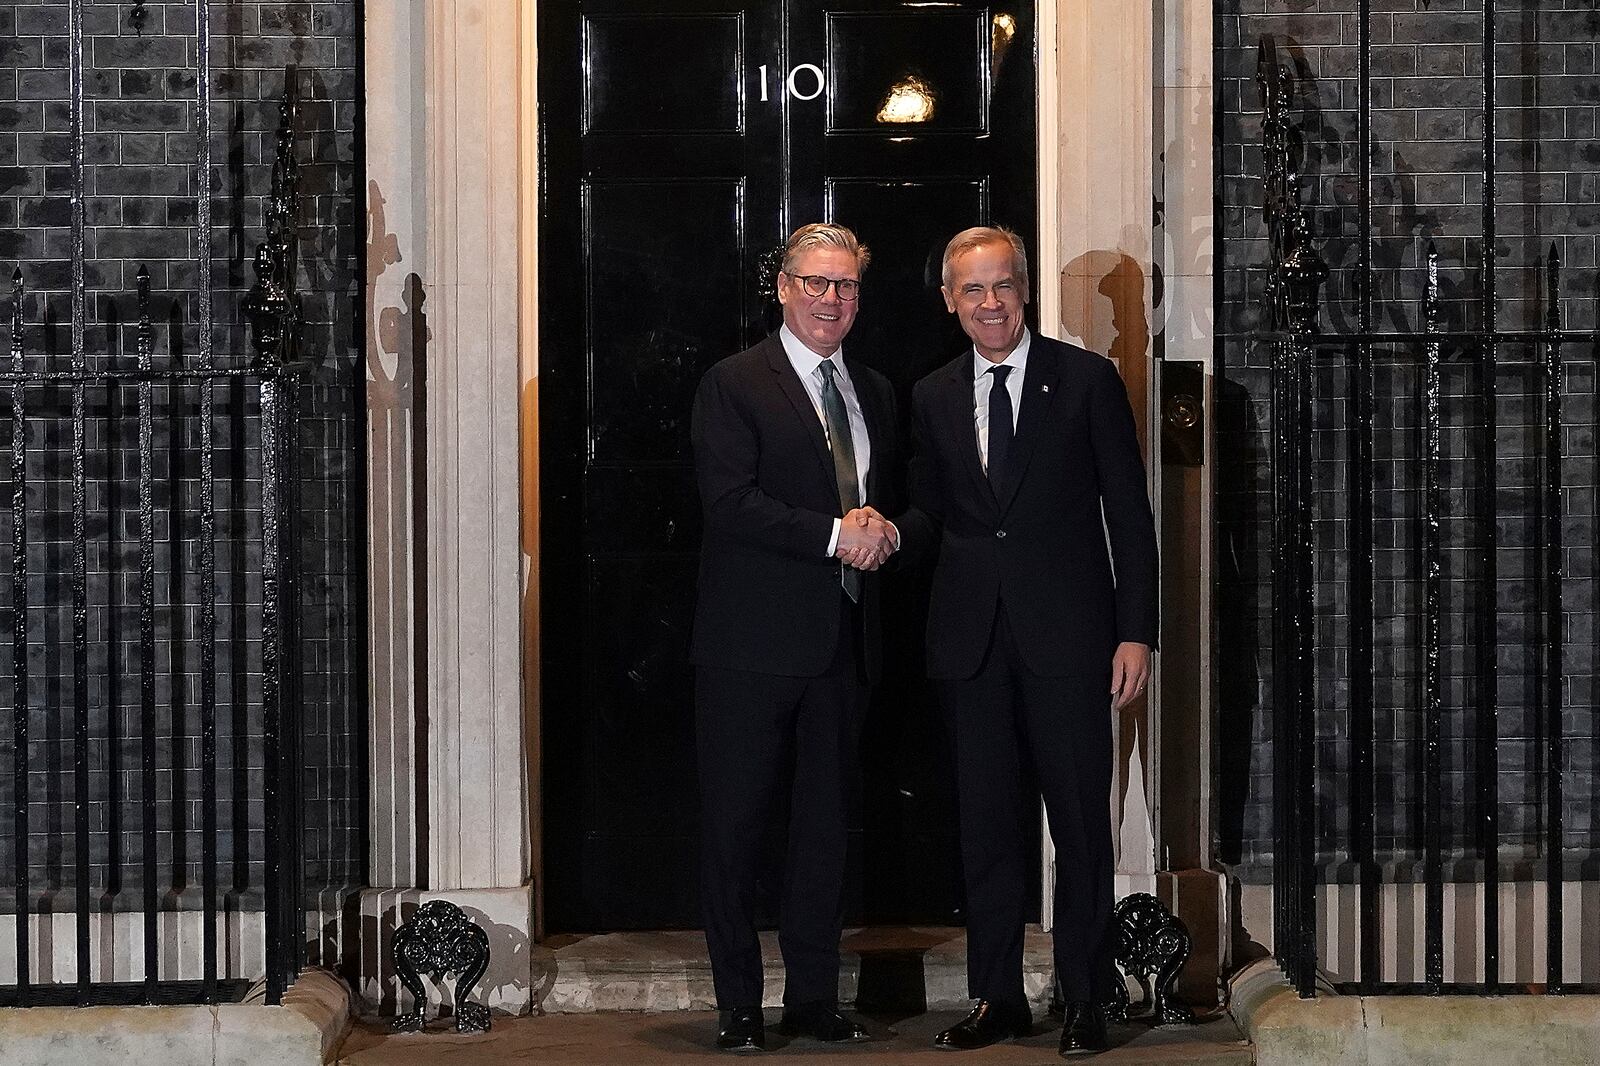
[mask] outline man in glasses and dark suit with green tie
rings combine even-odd
[[[779,274],[782,328],[706,371],[694,395],[701,885],[717,1045],[733,1052],[765,1047],[757,860],[790,775],[784,1029],[867,1036],[837,1008],[845,804],[880,663],[869,571],[898,541],[864,507],[893,506],[898,455],[888,379],[840,347],[866,266],[843,226],[795,230]]]

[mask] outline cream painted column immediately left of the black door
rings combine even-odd
[[[427,2],[429,887],[528,879],[517,0]]]

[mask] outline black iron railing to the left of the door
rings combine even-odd
[[[26,271],[13,279],[10,360],[0,368],[10,405],[11,551],[0,616],[10,626],[13,847],[10,869],[0,860],[0,893],[11,896],[16,962],[10,981],[0,978],[3,1005],[218,1002],[240,997],[262,970],[275,1004],[304,952],[293,520],[307,370],[298,352],[298,72],[285,78],[267,240],[245,299],[254,351],[219,354],[205,0],[197,11],[195,354],[157,357],[142,267],[133,357],[112,351],[91,360],[86,352],[82,0],[70,5],[66,367],[30,347]],[[48,317],[42,333],[48,344]],[[62,437],[70,440],[67,515],[56,469]],[[62,539],[66,602],[62,575],[50,563]],[[125,541],[136,541],[133,565]],[[123,639],[131,605],[118,600],[130,587],[138,632]],[[62,608],[69,663],[53,664],[51,626]],[[126,688],[136,688],[126,701],[125,674]],[[70,771],[59,765],[62,751]],[[61,815],[67,807],[70,824]],[[72,967],[40,944],[40,930],[66,909],[62,898],[74,917]],[[142,957],[130,957],[134,941]],[[197,965],[174,962],[195,946]]]

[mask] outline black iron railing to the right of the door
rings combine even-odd
[[[1563,722],[1566,679],[1563,663],[1563,490],[1562,464],[1576,456],[1563,453],[1563,346],[1595,343],[1594,333],[1563,328],[1558,295],[1562,262],[1552,245],[1547,258],[1533,269],[1542,293],[1542,322],[1534,330],[1502,330],[1496,320],[1494,293],[1494,5],[1483,13],[1483,267],[1475,293],[1475,328],[1442,327],[1440,256],[1429,243],[1422,253],[1418,290],[1421,291],[1421,330],[1376,331],[1373,285],[1373,133],[1368,3],[1360,3],[1360,66],[1357,112],[1357,158],[1360,160],[1360,222],[1355,245],[1357,330],[1322,333],[1318,328],[1318,290],[1328,271],[1317,254],[1307,213],[1301,203],[1301,131],[1294,120],[1293,75],[1278,62],[1274,42],[1261,40],[1258,83],[1264,106],[1264,198],[1270,246],[1272,275],[1267,285],[1267,330],[1259,343],[1272,352],[1272,738],[1274,738],[1274,951],[1290,981],[1302,996],[1312,996],[1322,959],[1318,959],[1318,909],[1331,906],[1326,887],[1338,880],[1357,885],[1357,904],[1347,922],[1355,925],[1357,973],[1347,981],[1360,992],[1446,992],[1446,991],[1571,991],[1584,988],[1563,980],[1563,757],[1570,725]],[[1446,362],[1445,354],[1451,357]],[[1592,365],[1592,363],[1590,363]],[[1394,392],[1381,392],[1378,371],[1398,368],[1414,375],[1418,424],[1400,426],[1392,416]],[[1446,368],[1453,381],[1466,387],[1446,391]],[[1499,429],[1501,402],[1496,378],[1520,373],[1531,383],[1518,394],[1536,418],[1530,435],[1536,435],[1531,455],[1534,491],[1525,506],[1507,511],[1501,491],[1499,471],[1504,459]],[[1336,386],[1325,383],[1336,381]],[[1411,381],[1411,378],[1406,378]],[[1334,395],[1336,394],[1336,395]],[[1338,403],[1330,403],[1338,400]],[[1379,418],[1379,400],[1390,411]],[[1445,451],[1446,419],[1467,440],[1466,455]],[[1374,485],[1379,483],[1379,434],[1403,429],[1413,434],[1414,450],[1406,455],[1384,455],[1384,461],[1414,464],[1416,536],[1410,552],[1389,552],[1390,573],[1379,575],[1376,563]],[[1318,443],[1320,442],[1320,443]],[[1394,445],[1390,445],[1392,450]],[[1338,515],[1339,536],[1318,538],[1315,523],[1325,515],[1320,498],[1328,485],[1318,485],[1322,453],[1334,451],[1333,461],[1344,466],[1344,483]],[[1461,496],[1469,499],[1469,514],[1459,504],[1446,503],[1445,467],[1453,466],[1467,482]],[[1408,475],[1411,477],[1411,475]],[[1390,477],[1389,487],[1394,487]],[[1318,491],[1323,490],[1323,491]],[[1530,703],[1533,743],[1530,765],[1538,779],[1539,816],[1536,831],[1520,832],[1509,840],[1502,832],[1501,754],[1506,736],[1501,723],[1502,611],[1499,600],[1501,523],[1522,522],[1533,530],[1536,559],[1526,575],[1536,591],[1536,624],[1518,642],[1534,648],[1530,674],[1534,682]],[[1448,535],[1448,538],[1446,538]],[[1462,592],[1461,603],[1470,619],[1466,635],[1456,640],[1456,651],[1466,651],[1469,687],[1450,688],[1445,671],[1446,621],[1445,565],[1446,539],[1459,551],[1462,563],[1451,578]],[[1397,547],[1386,544],[1384,547]],[[1338,559],[1330,559],[1336,555]],[[1394,559],[1403,557],[1405,571],[1394,575]],[[1333,563],[1325,567],[1325,563]],[[1326,573],[1338,575],[1326,578]],[[1374,757],[1379,736],[1378,696],[1374,683],[1382,682],[1379,640],[1374,627],[1374,595],[1381,581],[1406,581],[1416,592],[1418,682],[1411,704],[1419,719],[1419,765],[1416,781],[1419,800],[1414,820],[1408,821],[1406,839],[1381,842],[1379,760]],[[1390,616],[1398,608],[1390,607]],[[1339,647],[1318,648],[1318,634],[1328,632],[1330,616],[1339,613]],[[1462,648],[1466,643],[1469,647]],[[1320,658],[1320,651],[1338,651],[1342,659]],[[1328,663],[1342,663],[1344,671],[1330,671]],[[1347,744],[1347,775],[1334,775],[1318,767],[1320,752],[1328,751],[1328,738],[1317,735],[1318,706],[1334,699],[1331,688],[1342,683],[1338,695],[1347,711],[1347,736],[1334,738]],[[1456,693],[1446,699],[1446,693]],[[1470,695],[1462,699],[1459,693]],[[1394,711],[1390,707],[1389,711]],[[1470,711],[1470,719],[1467,712]],[[1470,722],[1470,727],[1467,725]],[[1448,821],[1445,754],[1453,739],[1446,725],[1454,727],[1454,739],[1464,739],[1461,751],[1470,752],[1472,783],[1467,816],[1469,839],[1462,842],[1462,818]],[[1390,727],[1392,728],[1392,727]],[[1461,730],[1469,736],[1461,738]],[[1459,767],[1458,767],[1459,768]],[[1334,786],[1336,781],[1336,786]],[[1341,816],[1318,816],[1339,808]],[[1456,826],[1454,839],[1446,832]],[[1542,887],[1544,893],[1544,973],[1517,975],[1517,984],[1506,976],[1499,957],[1502,943],[1501,890],[1507,880],[1502,852],[1515,844],[1522,882]],[[1397,860],[1398,855],[1398,860]],[[1531,856],[1531,858],[1526,858]],[[1334,868],[1342,868],[1334,872]],[[1405,868],[1403,872],[1397,872]],[[1446,869],[1448,868],[1448,869]],[[1394,900],[1384,900],[1386,887],[1397,880],[1421,888],[1422,938],[1418,960],[1419,981],[1381,980],[1384,933],[1381,916]],[[1446,882],[1470,884],[1478,900],[1480,917],[1458,925],[1446,922]],[[1461,908],[1451,916],[1458,919]],[[1349,928],[1349,925],[1346,925]],[[1453,930],[1453,933],[1450,932]],[[1474,946],[1480,965],[1458,959],[1446,973],[1446,936]],[[1392,944],[1390,944],[1392,948]],[[1466,954],[1466,952],[1458,952]],[[1392,962],[1392,960],[1390,960]]]

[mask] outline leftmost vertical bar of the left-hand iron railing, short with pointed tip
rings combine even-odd
[[[22,271],[11,275],[11,802],[16,860],[16,1002],[29,994],[27,877],[27,419],[22,387]]]

